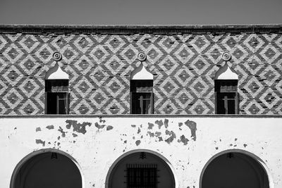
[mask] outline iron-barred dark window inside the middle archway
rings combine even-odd
[[[127,188],[157,188],[156,164],[128,164],[126,168]]]

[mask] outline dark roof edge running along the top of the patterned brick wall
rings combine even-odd
[[[250,25],[0,25],[0,32],[31,33],[207,33],[281,32],[282,24]]]

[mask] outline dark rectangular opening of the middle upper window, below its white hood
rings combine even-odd
[[[131,80],[131,113],[152,114],[154,113],[153,80]]]

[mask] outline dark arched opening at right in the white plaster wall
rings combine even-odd
[[[262,162],[243,152],[228,151],[205,166],[200,188],[271,188]]]

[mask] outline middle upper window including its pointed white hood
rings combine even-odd
[[[154,113],[153,75],[141,63],[130,77],[130,113]]]

